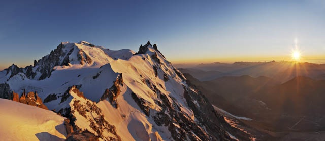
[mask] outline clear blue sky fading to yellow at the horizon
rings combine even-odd
[[[325,1],[5,1],[0,69],[25,67],[60,42],[138,51],[148,40],[172,63],[325,63]]]

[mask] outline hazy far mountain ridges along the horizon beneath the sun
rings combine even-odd
[[[182,70],[182,69],[181,69]],[[185,68],[184,73],[190,73],[201,81],[213,80],[222,76],[252,77],[267,76],[279,82],[286,82],[296,76],[306,76],[313,79],[325,79],[325,64],[281,62],[235,62],[200,64]]]

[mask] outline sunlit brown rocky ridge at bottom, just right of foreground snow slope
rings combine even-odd
[[[70,133],[67,140],[98,140],[99,138],[102,140],[121,140],[120,136],[117,135],[116,127],[106,120],[102,113],[102,109],[100,109],[96,103],[81,95],[82,92],[77,89],[77,86],[69,87],[68,91],[69,96],[73,97],[71,100],[72,105],[70,108],[58,112],[69,119],[66,120],[66,129],[68,134]],[[78,126],[76,123],[76,115],[89,121],[89,131],[87,128],[84,129]],[[90,129],[92,129],[92,131],[90,131]],[[110,135],[104,136],[103,134]]]

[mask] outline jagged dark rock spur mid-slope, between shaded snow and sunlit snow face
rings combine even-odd
[[[120,85],[123,86],[123,77],[122,74],[119,74],[114,81],[113,86],[109,89],[106,89],[100,101],[108,99],[111,105],[115,108],[118,108],[118,103],[116,98],[120,95]]]

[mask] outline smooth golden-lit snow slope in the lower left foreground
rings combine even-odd
[[[64,140],[64,118],[56,113],[0,99],[1,140]]]

